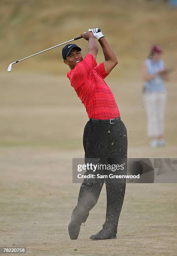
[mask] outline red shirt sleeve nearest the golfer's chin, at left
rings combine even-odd
[[[77,90],[77,88],[83,84],[87,76],[92,73],[92,69],[96,66],[97,62],[94,56],[92,54],[86,54],[85,58],[68,74],[72,87]]]

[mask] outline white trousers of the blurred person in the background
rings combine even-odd
[[[143,97],[147,112],[147,136],[163,136],[167,92],[144,93]]]

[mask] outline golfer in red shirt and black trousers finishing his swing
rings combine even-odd
[[[92,28],[89,32],[81,34],[88,41],[87,54],[84,59],[81,48],[75,44],[67,44],[62,49],[62,57],[64,63],[70,68],[67,77],[84,104],[89,118],[83,134],[85,161],[93,159],[91,160],[93,163],[94,159],[99,159],[100,163],[119,164],[120,159],[127,159],[127,130],[120,120],[115,98],[104,81],[117,65],[117,58],[102,32],[97,31],[97,28]],[[96,39],[105,56],[105,61],[99,65],[96,62],[98,52]],[[111,171],[104,170],[103,172]],[[86,173],[89,173],[89,170]],[[71,239],[77,239],[79,236],[81,224],[85,223],[89,211],[96,205],[104,182],[107,193],[106,220],[100,232],[90,236],[90,239],[116,238],[126,181],[116,182],[108,177],[107,179],[95,179],[95,181],[84,179],[80,187],[77,206],[72,211],[68,227]]]

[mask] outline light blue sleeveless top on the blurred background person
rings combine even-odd
[[[159,69],[165,69],[164,61],[161,59],[154,62],[151,58],[145,60],[147,71],[149,74],[154,74],[158,72]],[[160,76],[156,76],[154,79],[145,81],[144,92],[165,92],[165,82]]]

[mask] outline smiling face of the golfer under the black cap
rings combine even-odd
[[[67,64],[70,67],[70,69],[74,69],[77,63],[82,61],[82,59],[82,54],[79,51],[79,49],[73,48],[70,51],[70,54],[66,57],[66,59],[64,59],[64,63]]]

